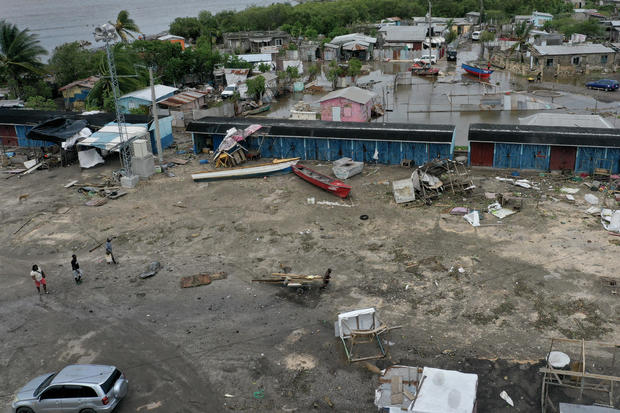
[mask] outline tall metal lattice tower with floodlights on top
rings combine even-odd
[[[110,43],[116,40],[116,29],[109,23],[95,28],[95,40],[105,42],[105,51],[108,58],[108,68],[110,70],[110,82],[112,83],[112,95],[114,97],[114,109],[116,111],[116,123],[118,125],[118,135],[121,143],[119,146],[119,155],[121,158],[122,174],[125,176],[132,176],[133,171],[131,169],[131,145],[127,140],[127,125],[125,124],[125,115],[120,110],[118,105],[118,98],[120,94],[120,87],[118,84],[118,76],[116,75],[116,64],[114,62],[114,56],[110,48]]]

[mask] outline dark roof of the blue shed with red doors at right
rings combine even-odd
[[[468,140],[470,142],[620,148],[620,130],[475,123],[469,126]]]

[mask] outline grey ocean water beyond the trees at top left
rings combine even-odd
[[[94,43],[96,26],[114,21],[120,10],[129,11],[142,33],[167,30],[176,17],[197,16],[201,10],[217,13],[266,6],[277,0],[0,0],[0,19],[39,35],[50,53],[54,47],[76,40]],[[46,59],[45,59],[46,60]]]

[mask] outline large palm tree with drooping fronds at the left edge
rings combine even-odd
[[[0,77],[6,76],[15,95],[20,95],[23,74],[43,74],[39,56],[47,51],[39,44],[38,36],[28,29],[19,30],[16,25],[0,20]]]

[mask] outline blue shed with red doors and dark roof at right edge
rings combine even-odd
[[[468,139],[471,166],[620,173],[618,129],[472,124]]]

